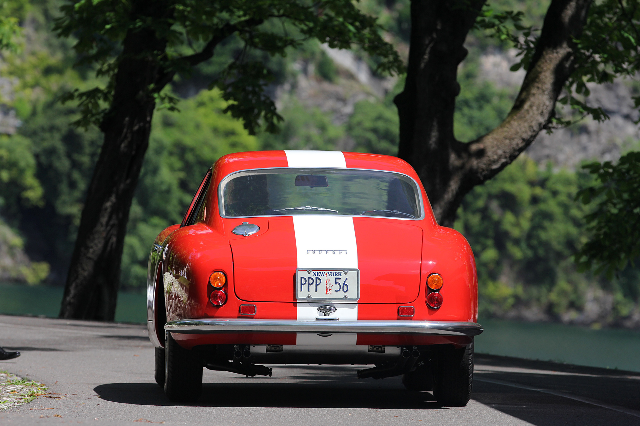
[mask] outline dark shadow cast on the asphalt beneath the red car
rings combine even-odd
[[[321,383],[207,383],[192,404],[170,402],[155,383],[107,383],[93,390],[104,400],[145,406],[442,409],[428,392]]]

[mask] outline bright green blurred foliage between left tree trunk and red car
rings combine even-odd
[[[157,234],[179,223],[202,177],[221,156],[259,148],[240,121],[223,111],[219,91],[202,91],[180,103],[180,113],[154,117],[150,146],[129,214],[122,256],[122,285],[142,288]]]

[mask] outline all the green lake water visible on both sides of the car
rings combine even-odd
[[[56,317],[62,289],[0,284],[0,313]],[[116,321],[144,323],[147,296],[144,293],[118,294]],[[476,351],[640,371],[640,330],[604,329],[548,323],[520,323],[481,319],[484,333],[476,337]]]

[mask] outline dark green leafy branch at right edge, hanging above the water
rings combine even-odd
[[[591,238],[575,261],[581,270],[595,268],[612,277],[640,257],[640,153],[623,155],[615,165],[595,162],[584,169],[596,184],[580,190],[577,199],[597,204],[586,216]]]

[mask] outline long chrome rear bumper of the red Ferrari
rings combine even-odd
[[[180,334],[217,333],[369,333],[438,336],[477,336],[478,323],[459,321],[295,321],[292,319],[177,319],[164,330]]]

